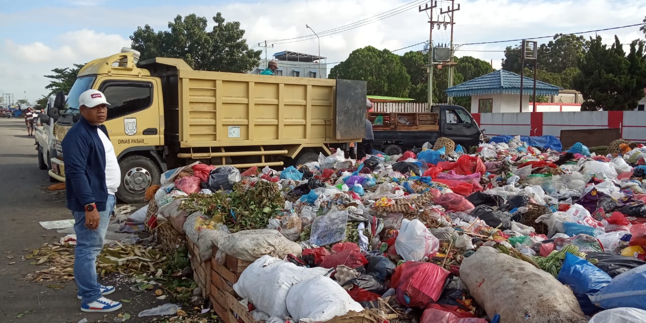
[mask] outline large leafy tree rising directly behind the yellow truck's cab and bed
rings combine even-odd
[[[168,23],[168,31],[155,32],[151,26],[137,27],[130,36],[132,48],[140,59],[174,57],[186,61],[195,70],[244,73],[260,61],[261,50],[251,50],[238,21],[225,23],[218,12],[215,26],[207,32],[207,19],[190,14],[177,15]]]

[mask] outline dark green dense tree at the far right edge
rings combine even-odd
[[[590,49],[579,63],[581,73],[574,78],[574,88],[583,94],[581,110],[632,110],[643,98],[646,75],[643,41],[633,41],[626,57],[615,36],[608,48],[601,36],[590,39]]]

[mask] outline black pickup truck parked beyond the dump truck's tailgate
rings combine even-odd
[[[433,105],[431,112],[439,114],[439,130],[374,130],[373,148],[388,155],[421,148],[427,141],[431,144],[440,137],[450,138],[464,149],[477,146],[484,140],[483,132],[471,114],[459,105]]]

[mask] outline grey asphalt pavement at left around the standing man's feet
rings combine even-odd
[[[63,284],[21,280],[45,268],[30,265],[21,256],[65,235],[46,230],[38,222],[72,218],[65,209],[65,191],[47,190],[52,183],[47,171],[38,169],[34,142],[34,137],[27,136],[24,121],[0,119],[0,322],[76,323],[83,318],[88,322],[114,322],[118,313],[132,315],[128,322],[150,322],[151,317],[138,318],[137,313],[168,300],[155,300],[152,293],[135,294],[129,286],[116,284],[117,291],[110,298],[130,303],[110,313],[83,313],[73,280]],[[47,287],[53,283],[63,289]],[[24,314],[18,318],[20,313]]]

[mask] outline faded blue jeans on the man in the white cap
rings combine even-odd
[[[96,280],[96,257],[103,249],[103,239],[108,231],[108,222],[114,209],[114,195],[108,194],[105,211],[100,211],[99,227],[91,230],[85,227],[85,212],[72,211],[74,215],[74,231],[76,232],[76,247],[74,258],[74,280],[81,295],[83,304],[94,302],[101,297],[99,283]]]

